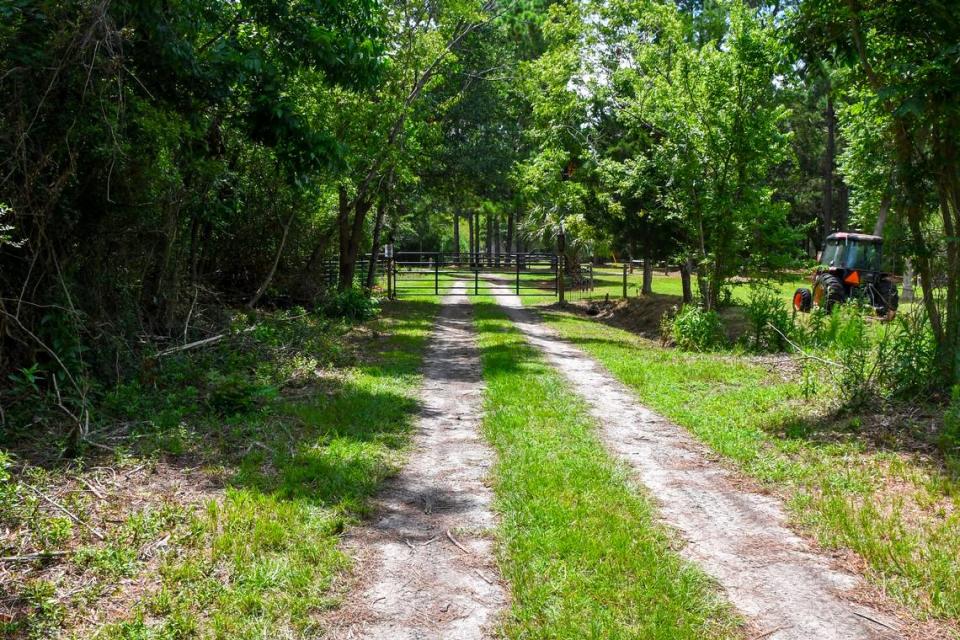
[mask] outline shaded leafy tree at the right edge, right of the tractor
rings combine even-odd
[[[845,170],[886,194],[910,234],[947,381],[960,379],[960,17],[952,2],[801,5],[794,28],[853,75],[841,128]],[[880,169],[888,165],[886,170]],[[877,188],[877,183],[886,183]],[[871,188],[872,185],[872,188]],[[859,197],[859,196],[858,196]],[[885,200],[879,196],[881,203]],[[873,196],[877,201],[877,196]],[[879,206],[878,213],[885,214]],[[942,273],[943,277],[938,278]],[[936,295],[943,285],[942,297]]]

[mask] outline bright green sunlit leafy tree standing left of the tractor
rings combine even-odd
[[[651,140],[631,163],[682,222],[708,309],[731,276],[785,266],[796,238],[769,186],[789,139],[779,44],[755,11],[723,6],[727,31],[702,44],[673,7],[613,2],[604,14],[622,58],[613,77],[629,87],[618,118]]]

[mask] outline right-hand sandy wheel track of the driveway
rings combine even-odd
[[[786,525],[780,502],[744,488],[682,428],[642,406],[592,358],[561,340],[520,300],[497,296],[528,341],[589,404],[601,437],[660,504],[683,554],[713,576],[769,640],[900,638],[906,621],[856,604],[863,580]]]

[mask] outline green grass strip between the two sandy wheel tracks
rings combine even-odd
[[[683,562],[597,438],[585,405],[504,313],[478,304],[484,431],[511,638],[737,637],[711,582]]]

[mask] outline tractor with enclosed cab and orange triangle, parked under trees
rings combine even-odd
[[[813,274],[813,290],[801,287],[793,294],[793,308],[808,313],[814,307],[827,313],[840,303],[860,300],[890,320],[900,302],[897,285],[880,270],[883,238],[863,233],[834,233],[827,237],[820,264]]]

